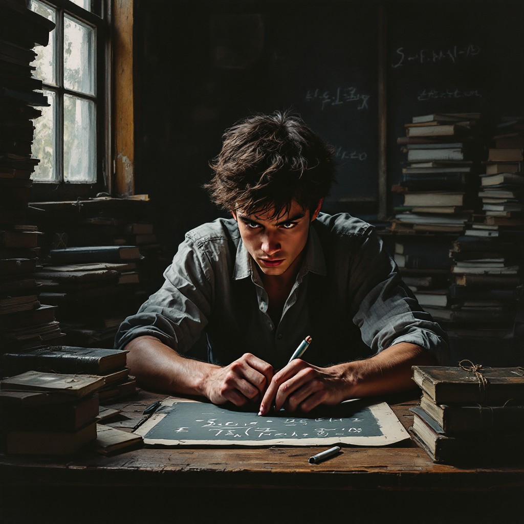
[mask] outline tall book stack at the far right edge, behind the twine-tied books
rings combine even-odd
[[[483,213],[474,215],[450,253],[453,312],[448,320],[455,361],[475,355],[489,365],[524,362],[524,341],[515,330],[524,249],[523,130],[522,118],[497,126],[496,147],[489,149],[486,174],[480,176]],[[493,354],[495,346],[498,351]]]

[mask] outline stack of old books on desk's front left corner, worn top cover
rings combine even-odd
[[[104,378],[29,371],[0,382],[0,432],[7,453],[69,455],[96,440]]]

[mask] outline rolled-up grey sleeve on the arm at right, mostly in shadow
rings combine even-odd
[[[445,332],[420,307],[375,231],[364,235],[352,259],[348,296],[362,340],[375,353],[400,342],[417,344],[447,364]]]

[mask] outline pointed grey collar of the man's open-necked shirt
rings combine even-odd
[[[241,280],[253,276],[255,270],[254,264],[256,264],[256,262],[253,260],[253,257],[249,255],[241,237],[236,249],[233,280]],[[320,243],[319,235],[316,233],[313,224],[311,224],[309,228],[305,258],[300,268],[299,276],[303,277],[308,271],[322,276],[327,274],[322,244]]]

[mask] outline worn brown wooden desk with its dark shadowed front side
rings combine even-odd
[[[112,406],[122,410],[122,420],[109,425],[131,431],[145,407],[164,397],[140,391],[132,400]],[[396,403],[390,400],[406,428],[412,423],[408,409],[416,404],[413,399],[397,397]],[[159,512],[155,517],[157,522],[171,521],[172,504],[177,507],[179,517],[185,515],[192,522],[208,521],[204,515],[201,515],[203,520],[194,515],[194,511],[204,511],[208,504],[213,508],[223,507],[220,515],[214,514],[209,521],[230,522],[232,500],[236,501],[237,509],[243,508],[249,514],[260,500],[274,504],[278,501],[289,504],[293,500],[293,512],[286,516],[286,522],[292,522],[293,518],[297,522],[310,521],[315,511],[326,504],[332,516],[349,517],[347,511],[351,506],[351,515],[361,515],[366,523],[372,522],[368,520],[370,507],[376,512],[377,522],[396,522],[394,515],[405,519],[406,510],[417,506],[423,511],[424,522],[433,522],[432,518],[440,522],[442,518],[454,521],[450,520],[452,507],[461,522],[469,522],[469,517],[475,517],[472,522],[493,518],[489,515],[495,507],[498,521],[503,516],[509,522],[519,521],[514,517],[518,515],[518,501],[524,487],[521,466],[468,468],[433,464],[412,441],[396,447],[344,447],[341,455],[310,465],[308,458],[315,451],[318,452],[318,448],[274,446],[262,449],[144,448],[114,457],[88,450],[64,459],[0,455],[0,486],[4,496],[8,494],[3,504],[5,507],[7,501],[9,515],[13,508],[30,511],[20,500],[20,494],[24,494],[26,500],[32,495],[38,498],[40,509],[42,505],[54,508],[49,522],[60,521],[57,508],[63,510],[65,518],[70,516],[68,511],[78,510],[79,502],[93,497],[94,507],[90,506],[91,510],[83,507],[81,513],[86,522],[92,522],[94,509],[94,515],[100,515],[101,505],[105,504],[103,512],[107,515],[122,501],[126,506],[125,518],[117,513],[112,517],[117,521],[118,516],[123,522],[144,522],[144,518],[147,521],[151,511],[160,511],[160,508],[167,511],[164,504],[167,503],[171,512],[168,516]],[[429,513],[427,504],[431,507]],[[391,513],[396,505],[403,508],[400,514]],[[446,512],[441,514],[443,509]],[[267,521],[256,520],[265,518],[265,514],[255,514],[251,522]],[[38,517],[38,524],[46,521],[41,520],[41,511]],[[77,518],[81,517],[77,515]]]

